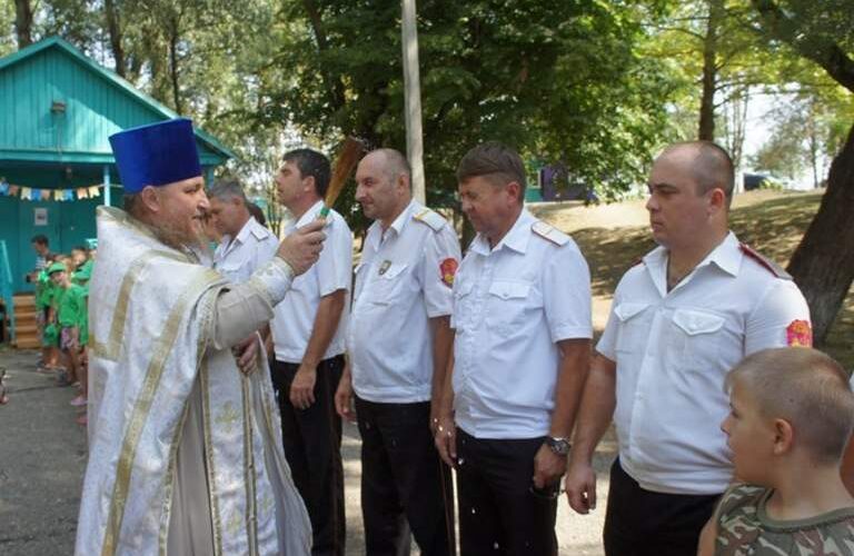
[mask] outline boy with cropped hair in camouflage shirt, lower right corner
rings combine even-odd
[[[840,460],[854,425],[847,374],[810,348],[745,358],[727,379],[736,483],[701,536],[701,556],[854,555],[854,498]]]

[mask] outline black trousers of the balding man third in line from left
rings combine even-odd
[[[454,492],[430,433],[430,403],[356,397],[361,434],[361,514],[368,556],[455,554]]]

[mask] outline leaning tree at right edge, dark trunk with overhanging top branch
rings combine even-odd
[[[854,10],[846,0],[752,0],[774,47],[786,44],[854,93]],[[854,126],[833,159],[827,190],[788,264],[823,342],[854,281]]]

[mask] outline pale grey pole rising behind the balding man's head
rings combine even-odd
[[[418,27],[415,0],[401,0],[404,88],[406,97],[406,156],[413,168],[413,196],[427,202],[424,185],[424,137],[421,135],[421,83],[418,73]]]

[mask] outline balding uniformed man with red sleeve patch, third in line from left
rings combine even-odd
[[[450,351],[451,286],[459,261],[454,229],[413,200],[409,165],[396,150],[368,153],[356,200],[368,229],[336,395],[344,416],[355,390],[361,434],[366,553],[454,554],[449,470],[433,445],[430,416]],[[327,240],[328,244],[328,240]]]

